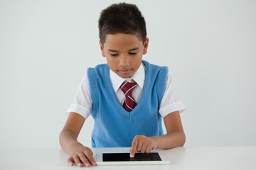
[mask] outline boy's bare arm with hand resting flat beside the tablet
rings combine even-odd
[[[78,113],[70,113],[63,130],[60,132],[60,146],[70,154],[68,159],[70,165],[74,163],[78,166],[82,166],[82,163],[85,166],[96,165],[91,149],[78,142],[78,135],[83,123],[85,123],[85,118]]]

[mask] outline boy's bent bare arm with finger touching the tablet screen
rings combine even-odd
[[[167,132],[166,135],[158,137],[135,136],[130,151],[131,157],[134,157],[136,152],[149,153],[152,149],[182,147],[186,137],[182,127],[180,113],[175,111],[166,115],[164,117],[164,125]]]

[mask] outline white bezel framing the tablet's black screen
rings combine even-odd
[[[97,152],[94,154],[94,158],[97,165],[139,165],[139,164],[169,164],[169,160],[166,157],[164,152],[157,152],[161,161],[132,161],[132,162],[103,162],[102,161],[102,154],[103,153],[110,153],[110,152]]]

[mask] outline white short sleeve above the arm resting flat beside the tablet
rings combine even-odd
[[[90,96],[89,81],[87,79],[87,74],[83,77],[78,91],[75,94],[73,103],[71,103],[68,111],[66,113],[75,112],[85,119],[88,118],[92,111],[92,98]]]

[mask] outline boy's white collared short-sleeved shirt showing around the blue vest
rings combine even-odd
[[[133,91],[134,100],[139,103],[140,98],[142,98],[142,89],[144,86],[145,80],[145,68],[143,64],[140,65],[137,72],[134,73],[134,76],[131,77],[134,81],[137,82],[138,86]],[[122,105],[124,102],[124,93],[119,89],[120,85],[124,82],[124,78],[119,77],[117,74],[112,72],[110,69],[110,80],[113,86],[113,89],[116,93],[119,103]],[[169,113],[174,111],[179,111],[180,113],[184,111],[186,107],[182,101],[178,101],[176,97],[174,87],[171,81],[171,76],[168,75],[166,80],[166,89],[164,91],[164,96],[161,100],[159,113],[162,118],[164,118]],[[67,113],[75,112],[82,115],[85,119],[88,118],[92,111],[92,98],[90,96],[90,86],[89,80],[87,79],[87,74],[82,79],[73,103],[68,108]]]

